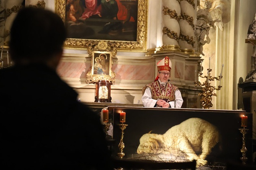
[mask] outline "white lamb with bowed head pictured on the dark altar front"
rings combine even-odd
[[[220,142],[213,124],[200,118],[190,118],[171,127],[164,134],[146,133],[139,139],[138,154],[177,154],[196,160],[197,167],[207,164],[206,157]]]

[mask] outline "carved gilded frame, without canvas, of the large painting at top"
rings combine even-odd
[[[147,4],[148,0],[138,0],[138,21],[137,21],[137,41],[107,41],[112,47],[118,48],[120,51],[146,51],[146,33],[147,33]],[[66,0],[56,0],[56,13],[65,23]],[[89,39],[73,39],[67,38],[65,48],[86,49],[89,46],[97,45],[100,40]]]

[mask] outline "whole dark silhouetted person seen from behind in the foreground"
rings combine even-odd
[[[62,19],[24,7],[10,30],[13,66],[0,70],[0,159],[6,169],[113,170],[98,114],[57,74]]]

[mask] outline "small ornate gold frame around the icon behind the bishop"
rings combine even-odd
[[[113,66],[113,60],[112,58],[117,55],[117,49],[115,47],[110,47],[110,45],[101,40],[96,46],[88,47],[87,48],[89,56],[91,56],[91,71],[88,71],[86,74],[86,83],[96,83],[99,80],[106,80],[109,81],[112,84],[115,84],[115,72],[112,71]],[[100,60],[100,56],[105,56],[105,61],[108,68],[105,72],[97,73],[94,72],[96,69],[94,68],[94,65],[96,64],[96,60]]]

